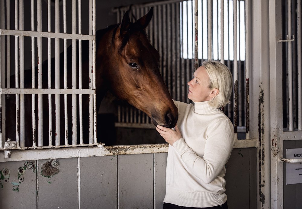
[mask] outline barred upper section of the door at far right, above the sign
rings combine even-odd
[[[301,1],[282,1],[283,128],[302,130]]]

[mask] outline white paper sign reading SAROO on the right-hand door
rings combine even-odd
[[[302,158],[302,148],[286,149],[286,158]],[[286,184],[299,183],[302,183],[302,163],[286,163]]]

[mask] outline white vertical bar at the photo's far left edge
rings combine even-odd
[[[0,28],[5,28],[5,14],[4,14],[4,0],[0,1]],[[5,88],[5,36],[0,35],[0,88]],[[5,95],[0,94],[0,148],[3,148],[3,130],[5,129],[5,124],[2,124],[3,113],[5,108],[2,109],[2,99],[5,100]],[[4,125],[4,126],[3,126]],[[5,138],[4,138],[5,139]]]

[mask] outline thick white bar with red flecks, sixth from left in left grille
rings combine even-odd
[[[41,0],[37,0],[37,31],[42,31]],[[38,88],[42,89],[42,38],[37,38],[38,44]],[[43,146],[43,113],[42,95],[38,95],[38,146]]]

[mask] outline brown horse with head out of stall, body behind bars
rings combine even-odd
[[[110,91],[117,98],[127,101],[130,105],[145,112],[152,123],[172,128],[178,120],[178,110],[172,97],[159,72],[159,53],[150,44],[150,41],[144,31],[153,16],[153,8],[138,19],[136,22],[130,22],[128,11],[120,24],[111,25],[105,29],[98,30],[95,35],[96,39],[96,62],[95,67],[95,89],[96,89],[96,108],[100,107],[101,101],[107,91]],[[89,44],[88,41],[82,40],[82,88],[89,89]],[[78,42],[77,42],[78,51]],[[78,57],[78,56],[77,56]],[[60,88],[64,88],[64,54],[60,54]],[[55,86],[55,58],[51,59],[51,83]],[[77,77],[79,76],[79,65],[77,60]],[[36,74],[37,74],[36,67]],[[72,87],[72,46],[67,48],[67,86]],[[48,88],[48,61],[42,64],[42,88]],[[24,72],[24,88],[32,88],[31,70]],[[37,78],[37,76],[36,76]],[[79,80],[79,79],[77,79]],[[14,75],[11,76],[11,87],[15,86]],[[37,86],[37,80],[36,86]],[[77,82],[77,88],[79,82]],[[37,96],[37,95],[36,95]],[[43,98],[43,146],[49,142],[49,124],[48,124],[48,95]],[[32,141],[36,141],[33,136],[32,124],[32,96],[24,95],[25,102],[25,147],[31,147]],[[55,99],[52,95],[52,120],[55,118]],[[72,104],[71,95],[68,95],[68,104]],[[79,99],[77,99],[79,107]],[[87,110],[89,107],[88,95],[82,95],[82,109]],[[37,112],[36,98],[36,112]],[[16,139],[16,120],[15,120],[15,96],[6,97],[6,138]],[[79,115],[79,112],[77,113]],[[72,110],[68,108],[68,121],[71,121]],[[70,144],[72,133],[72,124],[68,123],[69,132],[64,133],[64,97],[60,95],[60,145],[65,142],[64,136],[68,135]],[[79,118],[77,116],[77,118]],[[38,123],[36,114],[36,124]],[[82,117],[83,138],[89,133],[89,116],[84,114]],[[77,121],[77,126],[79,120]],[[50,133],[54,143],[57,129],[52,122]],[[37,132],[37,131],[36,131]],[[85,137],[87,138],[87,137]],[[85,142],[85,139],[84,139]],[[79,143],[79,131],[77,131],[77,143]]]

